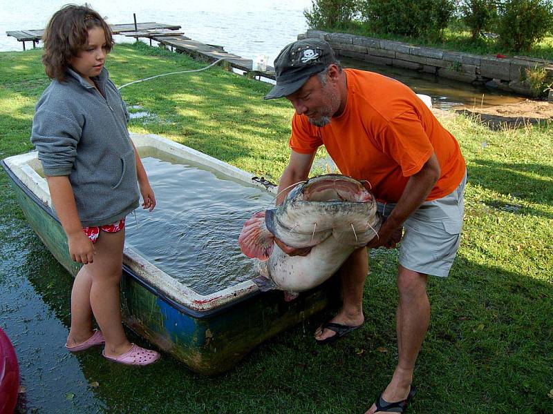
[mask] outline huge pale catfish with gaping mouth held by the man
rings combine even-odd
[[[256,257],[259,273],[287,292],[313,288],[334,274],[355,248],[377,235],[382,217],[364,183],[343,175],[323,175],[294,187],[276,208],[258,212],[238,238],[243,253]],[[288,256],[277,244],[311,247]]]

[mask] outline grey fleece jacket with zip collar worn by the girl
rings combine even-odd
[[[44,174],[69,177],[83,226],[122,219],[140,197],[129,112],[105,68],[94,79],[105,98],[68,69],[65,82],[44,90],[32,120]]]

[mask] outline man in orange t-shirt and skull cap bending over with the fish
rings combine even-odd
[[[397,270],[399,359],[391,382],[367,411],[403,413],[415,393],[413,369],[430,319],[427,275],[447,276],[460,242],[465,160],[453,135],[412,90],[373,72],[342,70],[326,41],[290,43],[274,67],[277,84],[265,99],[285,97],[296,110],[277,204],[308,177],[324,145],[344,175],[369,181],[379,201],[386,221],[368,247],[394,247],[404,230]],[[290,255],[308,253],[277,244]],[[315,331],[317,342],[363,324],[367,272],[366,248],[359,248],[340,270],[341,311]]]

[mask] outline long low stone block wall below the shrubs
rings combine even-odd
[[[489,86],[528,97],[534,97],[535,92],[525,81],[525,69],[545,68],[549,81],[553,82],[552,61],[522,57],[502,59],[320,30],[308,30],[305,34],[299,34],[298,39],[308,37],[328,41],[337,57],[353,57],[378,65],[419,70],[465,83],[480,85],[487,83]]]

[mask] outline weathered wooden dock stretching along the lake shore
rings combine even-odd
[[[225,51],[223,46],[209,45],[201,43],[186,37],[184,32],[178,31],[180,26],[164,23],[130,23],[130,24],[113,24],[110,25],[113,34],[121,34],[126,37],[134,37],[139,39],[149,39],[150,46],[152,41],[157,41],[172,52],[185,53],[194,59],[214,62],[218,59],[225,59],[232,68],[236,68],[246,73],[251,73],[253,76],[265,77],[274,79],[274,68],[268,66],[267,70],[260,72],[253,70],[252,59],[244,59],[243,57],[233,55]],[[44,34],[44,29],[41,30],[19,30],[6,32],[8,36],[15,37],[18,41],[23,42],[23,50],[25,50],[25,42],[32,41],[32,47],[37,46],[38,41]]]

